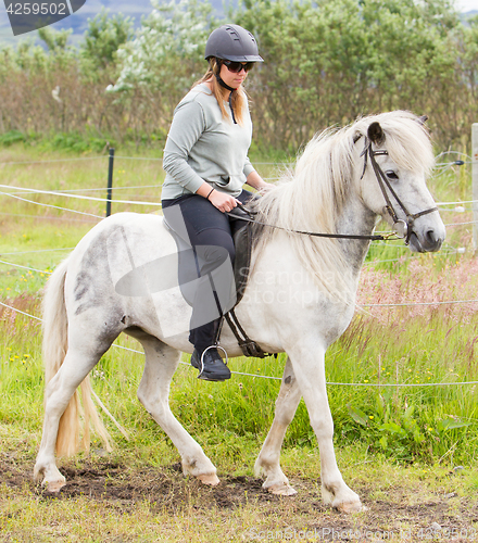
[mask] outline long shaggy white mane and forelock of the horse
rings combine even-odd
[[[360,154],[373,122],[380,124],[385,134],[382,147],[399,167],[428,174],[433,166],[432,149],[415,115],[397,111],[363,117],[342,129],[327,129],[314,137],[294,171],[282,176],[275,189],[254,203],[257,220],[291,230],[336,232],[337,218],[352,185],[362,175],[364,159]],[[277,231],[263,228],[257,247]],[[343,294],[348,263],[341,243],[337,239],[297,233],[289,237],[305,269],[320,287],[335,295]],[[334,269],[337,273],[330,283]]]

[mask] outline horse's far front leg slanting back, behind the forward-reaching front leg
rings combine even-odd
[[[292,364],[288,358],[276,401],[273,426],[255,462],[256,475],[263,472],[266,476],[263,488],[273,494],[287,496],[295,494],[295,490],[289,484],[289,480],[280,469],[280,449],[287,427],[295,415],[300,400],[301,391],[293,374]]]

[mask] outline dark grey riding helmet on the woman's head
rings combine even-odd
[[[239,25],[223,25],[212,31],[205,45],[204,59],[211,56],[232,62],[264,62],[259,55],[254,36]]]

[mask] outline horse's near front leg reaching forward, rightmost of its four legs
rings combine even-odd
[[[288,350],[288,354],[317,437],[324,503],[341,512],[361,510],[360,497],[344,483],[337,466],[332,442],[334,421],[325,380],[325,349],[318,341],[302,339]]]

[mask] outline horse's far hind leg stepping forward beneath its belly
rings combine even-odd
[[[179,451],[184,473],[194,476],[205,484],[217,484],[216,468],[169,408],[169,383],[179,364],[180,352],[146,332],[135,330],[127,333],[141,342],[146,354],[139,401]]]

